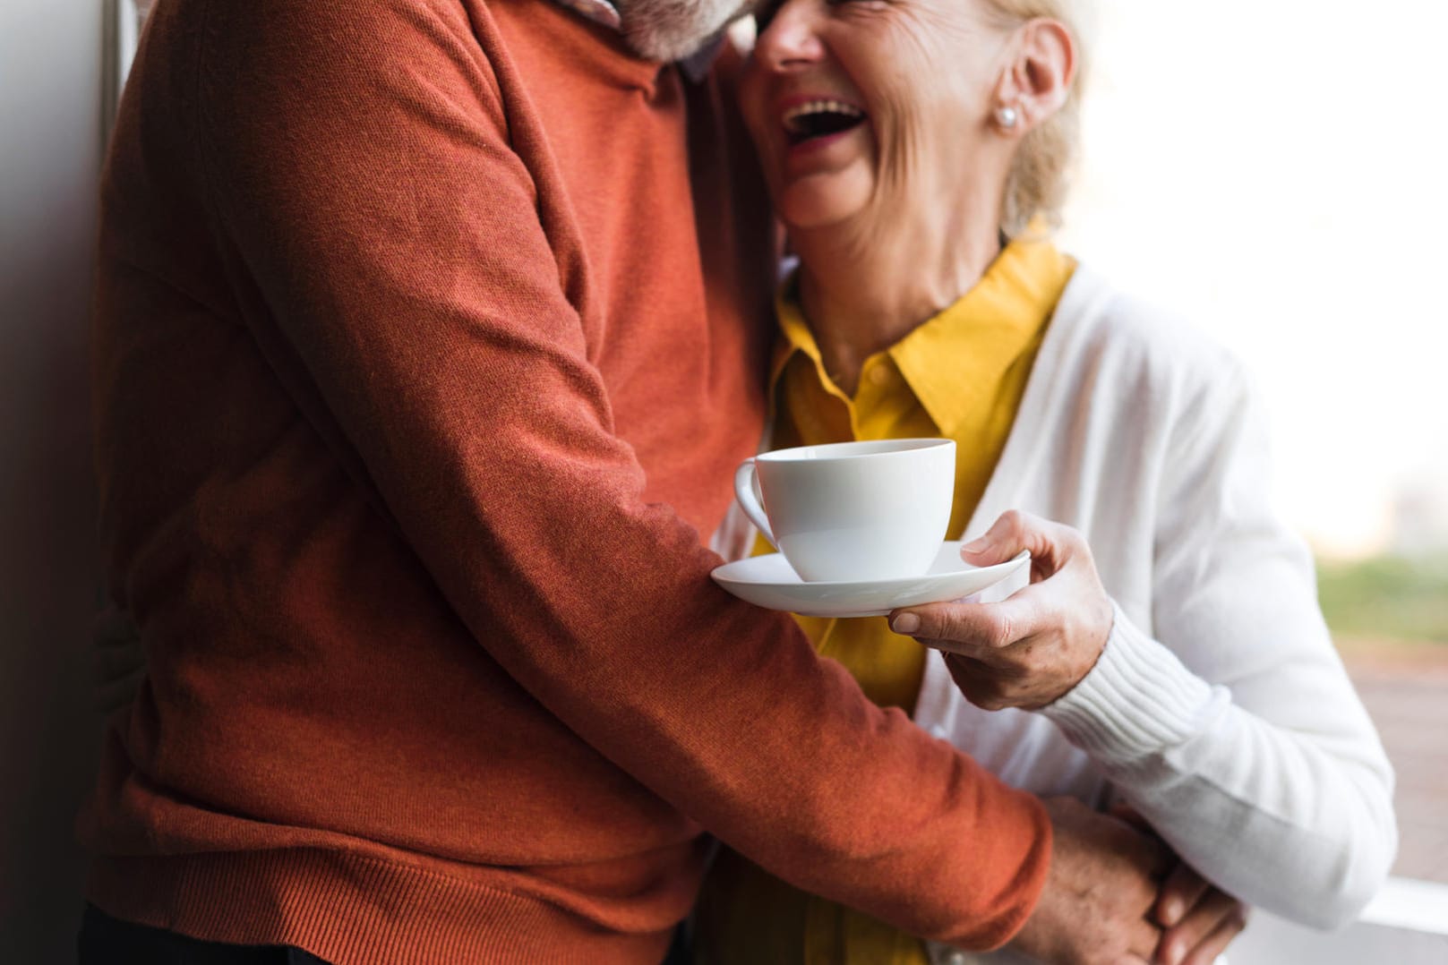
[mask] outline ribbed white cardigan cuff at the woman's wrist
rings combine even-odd
[[[1098,762],[1125,765],[1184,741],[1226,692],[1137,629],[1115,602],[1112,609],[1096,666],[1043,713]]]

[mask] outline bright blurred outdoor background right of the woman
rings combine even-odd
[[[1247,360],[1397,767],[1394,871],[1448,883],[1448,4],[1095,9],[1064,245]]]

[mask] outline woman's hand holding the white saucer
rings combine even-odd
[[[944,651],[956,686],[986,710],[1044,707],[1100,657],[1114,611],[1080,532],[1011,511],[960,548],[976,566],[1031,551],[1031,584],[999,603],[931,603],[891,613],[896,634]]]

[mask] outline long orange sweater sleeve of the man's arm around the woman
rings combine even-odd
[[[786,880],[917,933],[1006,940],[1044,883],[1040,804],[714,587],[717,557],[643,501],[559,226],[510,148],[482,9],[230,6],[203,45],[198,156],[235,284],[264,308],[246,321],[479,644]]]

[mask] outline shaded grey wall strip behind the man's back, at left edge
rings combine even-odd
[[[0,0],[0,959],[74,962],[93,780],[87,305],[101,0]]]

